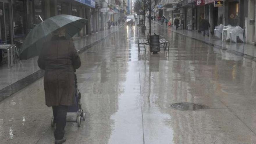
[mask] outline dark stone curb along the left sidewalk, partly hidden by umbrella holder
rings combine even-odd
[[[88,50],[89,48],[95,46],[97,43],[101,42],[102,40],[106,39],[108,36],[112,35],[113,33],[117,32],[122,26],[118,27],[115,31],[112,33],[109,33],[108,35],[100,38],[99,40],[96,40],[95,42],[79,49],[77,52],[79,54],[83,53],[84,51]],[[10,84],[9,86],[6,86],[0,90],[0,102],[2,102],[7,97],[10,97],[14,93],[17,93],[19,90],[29,86],[31,83],[37,81],[38,79],[42,78],[44,76],[45,72],[44,70],[37,70],[36,72],[29,74],[28,76],[16,81],[15,83]]]

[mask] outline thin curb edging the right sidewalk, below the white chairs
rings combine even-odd
[[[157,23],[157,22],[155,22],[155,23],[158,24],[159,26],[162,26],[161,24],[159,24],[159,23]],[[256,57],[255,57],[255,56],[250,56],[250,55],[248,55],[248,54],[244,54],[244,53],[241,53],[241,52],[239,52],[239,51],[231,50],[231,49],[228,49],[227,47],[223,47],[223,46],[220,46],[220,45],[216,45],[216,44],[213,44],[213,43],[211,43],[211,42],[206,42],[206,41],[204,41],[204,40],[199,40],[199,39],[197,39],[197,38],[194,38],[194,37],[191,37],[191,36],[189,36],[189,35],[185,35],[185,34],[179,33],[179,32],[177,32],[177,31],[173,31],[173,30],[170,30],[170,29],[166,29],[166,30],[172,31],[172,32],[174,32],[174,33],[178,33],[178,34],[180,34],[180,35],[186,36],[186,37],[191,38],[191,39],[193,39],[193,40],[198,40],[198,41],[200,41],[200,42],[202,42],[202,43],[205,43],[205,44],[207,44],[207,45],[210,45],[210,46],[212,46],[212,47],[216,47],[216,48],[218,48],[218,49],[223,49],[223,50],[225,50],[225,51],[227,51],[227,52],[229,52],[229,53],[232,53],[232,54],[235,54],[235,55],[238,55],[238,56],[242,56],[242,57],[247,58],[247,59],[250,59],[250,60],[252,60],[252,61],[256,61]]]

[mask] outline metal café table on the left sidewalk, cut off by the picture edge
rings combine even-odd
[[[15,53],[15,45],[11,44],[0,44],[0,49],[5,49],[7,51],[7,61],[8,61],[8,68],[10,65],[13,66],[13,59],[16,61],[16,53]],[[13,58],[14,55],[14,58]]]

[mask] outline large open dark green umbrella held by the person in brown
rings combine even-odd
[[[66,28],[65,37],[70,39],[86,25],[87,20],[72,15],[56,15],[41,22],[26,36],[19,50],[20,60],[38,56],[43,43],[51,38],[51,33],[62,27]]]

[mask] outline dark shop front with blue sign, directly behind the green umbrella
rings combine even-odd
[[[18,44],[37,24],[51,16],[68,14],[89,19],[94,0],[0,0],[0,42]],[[89,25],[77,34],[89,34]]]

